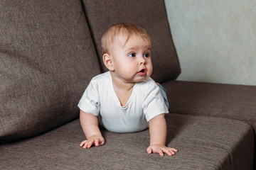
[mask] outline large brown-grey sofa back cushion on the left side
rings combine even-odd
[[[0,141],[78,118],[100,73],[80,1],[0,1]]]

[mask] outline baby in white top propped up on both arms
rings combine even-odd
[[[138,132],[149,127],[146,152],[175,154],[177,149],[165,146],[167,103],[161,87],[150,78],[153,67],[149,35],[132,23],[118,23],[102,35],[102,53],[109,72],[92,78],[78,103],[87,138],[80,146],[105,144],[99,122],[112,132]]]

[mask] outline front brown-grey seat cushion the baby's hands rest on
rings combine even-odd
[[[238,120],[166,115],[167,145],[179,151],[147,154],[149,130],[102,130],[106,144],[82,149],[79,120],[38,137],[0,145],[1,169],[252,169],[253,132]]]

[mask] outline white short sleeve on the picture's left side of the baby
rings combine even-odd
[[[99,115],[100,112],[100,97],[97,90],[97,84],[93,84],[92,81],[87,86],[82,98],[78,103],[80,110],[91,113],[92,115]]]

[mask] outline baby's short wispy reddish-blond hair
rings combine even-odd
[[[129,40],[131,35],[139,35],[143,40],[149,40],[149,35],[146,33],[146,30],[143,28],[136,26],[133,23],[117,23],[114,26],[110,26],[105,30],[105,33],[102,35],[102,54],[108,53],[110,50],[110,45],[114,42],[117,35],[127,34],[127,40],[124,44]]]

